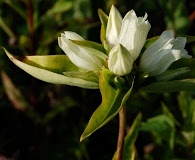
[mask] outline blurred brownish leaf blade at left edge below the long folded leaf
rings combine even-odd
[[[20,90],[16,88],[8,75],[3,71],[1,72],[1,78],[7,97],[12,102],[13,106],[17,110],[25,111],[29,105]]]

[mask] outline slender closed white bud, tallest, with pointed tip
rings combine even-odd
[[[106,28],[106,41],[111,49],[118,43],[118,37],[121,30],[122,17],[119,11],[112,6],[108,17]]]

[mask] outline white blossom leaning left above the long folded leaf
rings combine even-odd
[[[104,65],[107,55],[94,48],[78,45],[71,40],[84,40],[74,32],[66,31],[58,38],[60,48],[68,58],[79,68],[87,71],[98,71]]]

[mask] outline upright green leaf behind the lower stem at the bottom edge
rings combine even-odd
[[[124,148],[123,148],[123,160],[134,160],[135,158],[135,141],[137,139],[140,125],[141,125],[142,114],[139,113],[133,124],[131,125],[124,141]],[[112,160],[116,160],[116,152],[112,158]]]

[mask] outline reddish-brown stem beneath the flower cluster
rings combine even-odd
[[[123,145],[125,138],[125,128],[126,128],[126,109],[125,106],[119,111],[119,133],[116,151],[116,160],[122,160],[123,158]]]

